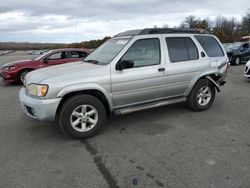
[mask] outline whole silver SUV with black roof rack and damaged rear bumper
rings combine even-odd
[[[179,102],[206,110],[228,66],[221,43],[204,30],[132,30],[83,62],[29,73],[19,95],[28,116],[57,120],[66,135],[82,139],[115,114]]]

